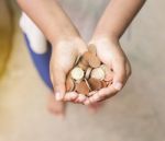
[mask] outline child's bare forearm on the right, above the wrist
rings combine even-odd
[[[94,38],[106,35],[119,39],[144,2],[145,0],[111,0],[98,23]]]

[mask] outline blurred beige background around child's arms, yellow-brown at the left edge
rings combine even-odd
[[[108,1],[62,7],[88,40]],[[79,7],[84,16],[74,12]],[[0,0],[0,141],[165,141],[164,0],[148,0],[121,39],[133,72],[123,91],[96,115],[69,104],[65,120],[46,109],[50,90],[25,47],[20,13],[14,1]]]

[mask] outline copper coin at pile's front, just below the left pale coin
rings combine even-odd
[[[86,84],[85,81],[81,81],[80,83],[77,83],[76,84],[76,89],[75,91],[79,94],[85,94],[87,95],[89,93],[89,87],[88,85]]]

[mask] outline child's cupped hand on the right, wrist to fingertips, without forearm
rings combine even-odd
[[[108,87],[96,92],[91,97],[85,101],[85,104],[94,104],[96,102],[105,101],[117,94],[131,74],[130,62],[120,47],[119,42],[112,40],[108,37],[97,37],[91,40],[97,47],[97,55],[100,60],[109,66],[113,71],[113,81]]]

